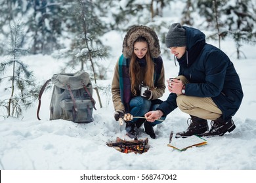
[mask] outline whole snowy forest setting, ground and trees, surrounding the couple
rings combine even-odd
[[[171,170],[168,174],[192,169],[254,170],[191,171],[192,176],[184,174],[186,181],[179,174],[181,182],[209,177],[211,182],[252,180],[249,178],[256,170],[255,0],[0,0],[0,6],[1,170],[115,170],[115,174],[117,170],[147,170],[145,174],[148,170],[154,174],[165,173],[163,170]],[[165,79],[175,77],[179,65],[175,66],[174,56],[165,46],[165,36],[176,22],[200,29],[205,41],[221,48],[234,63],[244,92],[242,105],[232,118],[236,129],[222,137],[207,138],[205,146],[174,150],[167,146],[170,131],[186,129],[189,118],[177,108],[154,127],[156,139],[139,128],[139,139],[148,138],[148,152],[120,153],[106,143],[117,137],[129,140],[125,125],[114,119],[111,93],[123,39],[133,25],[152,27],[160,40]],[[54,84],[45,88],[41,120],[37,120],[43,84],[55,73],[77,71],[89,73],[93,83],[93,122],[49,120]],[[164,101],[168,95],[165,90],[160,99]],[[36,172],[20,171],[20,175],[30,178]],[[66,181],[75,182],[77,177]],[[20,182],[20,178],[10,172],[10,182]],[[49,182],[43,178],[52,176],[44,173],[33,182]]]

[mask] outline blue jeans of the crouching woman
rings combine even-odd
[[[140,116],[144,117],[144,114],[150,110],[156,110],[160,106],[160,103],[153,104],[152,101],[149,101],[148,99],[145,99],[144,97],[137,96],[133,97],[130,101],[130,107],[131,107],[131,115],[133,116]],[[160,118],[161,120],[165,120],[166,117]],[[139,118],[133,118],[133,122],[137,122]],[[162,121],[154,121],[151,123],[152,125],[161,124]]]

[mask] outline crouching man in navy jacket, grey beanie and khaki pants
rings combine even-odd
[[[165,39],[167,48],[179,62],[179,76],[167,81],[171,92],[166,101],[144,116],[154,122],[179,107],[190,114],[191,123],[176,138],[199,135],[222,136],[236,125],[232,116],[244,96],[240,78],[228,56],[219,48],[205,43],[198,29],[172,24]],[[209,130],[207,120],[211,120]]]

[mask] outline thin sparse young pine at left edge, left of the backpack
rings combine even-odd
[[[22,27],[23,24],[19,22],[12,25],[9,48],[9,57],[11,59],[0,64],[0,75],[10,73],[9,76],[0,78],[0,84],[4,80],[7,80],[3,84],[5,86],[5,93],[11,93],[9,93],[11,95],[9,99],[0,101],[0,107],[6,108],[7,114],[5,116],[7,117],[16,116],[16,118],[19,118],[22,115],[22,108],[30,107],[32,102],[37,98],[37,89],[32,72],[20,60],[20,56],[28,54],[28,49],[21,47],[23,39]],[[11,69],[7,70],[8,67],[11,67]]]

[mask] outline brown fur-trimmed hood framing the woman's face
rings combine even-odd
[[[160,44],[156,32],[145,25],[135,25],[129,29],[123,39],[123,56],[131,58],[133,54],[133,44],[138,37],[144,37],[148,41],[148,46],[152,58],[158,58],[161,54]]]

